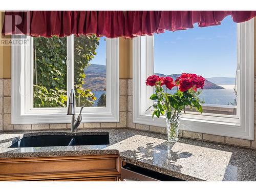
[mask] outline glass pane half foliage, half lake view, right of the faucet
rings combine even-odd
[[[106,38],[74,37],[76,106],[106,106]]]

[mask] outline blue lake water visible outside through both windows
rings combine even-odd
[[[199,97],[204,99],[206,104],[223,104],[227,105],[228,103],[234,102],[236,96],[234,95],[234,85],[233,84],[218,84],[225,89],[211,89],[211,90],[202,90],[202,93]],[[97,101],[101,94],[105,91],[92,91],[97,98],[94,106],[97,105]],[[174,90],[172,90],[174,92]]]

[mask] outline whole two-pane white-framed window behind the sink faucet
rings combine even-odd
[[[119,121],[119,40],[96,36],[28,37],[12,46],[12,123],[68,123],[76,92],[82,122]]]

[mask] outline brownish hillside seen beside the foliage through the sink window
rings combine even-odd
[[[86,78],[84,78],[83,88],[91,91],[106,90],[106,66],[91,64],[84,73]]]

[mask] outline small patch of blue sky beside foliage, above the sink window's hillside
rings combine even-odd
[[[106,65],[106,37],[100,37],[99,46],[96,49],[95,57],[90,61],[91,64]]]

